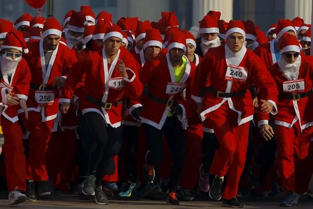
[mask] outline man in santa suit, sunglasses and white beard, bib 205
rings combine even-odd
[[[279,176],[287,196],[281,206],[291,207],[299,200],[299,193],[307,191],[307,182],[296,179],[297,165],[307,166],[302,160],[308,155],[313,132],[313,63],[308,56],[300,55],[300,46],[296,37],[285,33],[279,40],[281,57],[269,71],[278,88],[278,114],[274,116],[277,135],[277,165]],[[268,115],[259,113],[258,125],[266,140],[273,137],[273,129],[268,125]],[[297,157],[294,156],[294,150]],[[300,159],[300,160],[299,160]],[[297,163],[297,165],[295,165]],[[302,164],[301,164],[302,163]],[[301,165],[300,165],[301,164]],[[301,178],[305,174],[301,173]],[[297,180],[297,181],[296,181]],[[301,184],[304,186],[299,186]],[[297,184],[297,186],[296,186]],[[299,191],[298,188],[304,190]],[[297,192],[297,193],[296,193]]]

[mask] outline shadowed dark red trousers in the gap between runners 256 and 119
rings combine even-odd
[[[67,191],[75,169],[75,130],[60,129],[51,134],[46,154],[47,170],[54,189]]]

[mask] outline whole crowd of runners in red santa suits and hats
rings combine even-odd
[[[174,12],[114,23],[90,6],[63,23],[0,19],[8,204],[73,193],[105,205],[109,192],[166,193],[172,205],[202,192],[234,208],[249,195],[284,191],[285,207],[313,197],[311,24],[279,19],[263,32],[220,16],[190,31]]]

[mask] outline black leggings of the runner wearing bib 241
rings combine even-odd
[[[147,163],[156,168],[162,162],[162,132],[168,141],[169,149],[173,156],[173,164],[169,177],[169,190],[175,190],[178,186],[185,163],[186,136],[181,122],[175,116],[167,117],[162,130],[144,123],[145,137],[149,154]]]

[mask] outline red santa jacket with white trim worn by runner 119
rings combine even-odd
[[[118,70],[119,59],[125,64],[129,79],[121,76]],[[104,117],[107,124],[114,128],[119,127],[123,117],[120,101],[124,94],[135,99],[143,91],[138,79],[138,69],[136,60],[124,48],[120,48],[111,64],[107,63],[104,48],[101,51],[90,51],[86,59],[77,62],[70,70],[60,102],[70,102],[76,84],[81,82],[86,73],[80,101],[82,114],[96,112]]]

